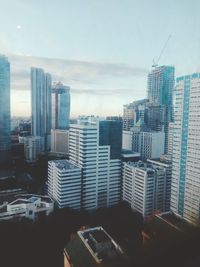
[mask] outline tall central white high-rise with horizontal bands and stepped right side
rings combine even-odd
[[[108,207],[120,200],[121,159],[118,158],[118,147],[107,143],[106,134],[105,139],[101,139],[106,141],[106,145],[100,145],[99,137],[103,134],[100,127],[98,122],[70,125],[69,158],[82,169],[81,201],[82,208],[87,210]]]

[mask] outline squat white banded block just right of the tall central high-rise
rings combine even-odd
[[[123,164],[123,200],[144,217],[166,211],[166,169],[151,163]]]

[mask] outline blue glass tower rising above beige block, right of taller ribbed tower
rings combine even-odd
[[[52,86],[52,129],[68,129],[70,116],[70,87],[61,82]]]

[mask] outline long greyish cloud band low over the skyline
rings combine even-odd
[[[127,94],[130,89],[113,89],[113,87],[118,84],[119,80],[122,81],[121,84],[123,85],[123,80],[134,80],[147,74],[147,70],[144,68],[123,63],[52,59],[28,55],[10,55],[8,57],[11,62],[13,90],[30,90],[31,66],[43,68],[52,74],[53,80],[71,86],[72,93],[80,94],[102,95],[113,92]],[[110,81],[113,81],[113,84],[112,88],[109,89]]]

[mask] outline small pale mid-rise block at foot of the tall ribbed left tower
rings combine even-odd
[[[24,137],[24,155],[27,162],[35,162],[40,154],[40,136]]]

